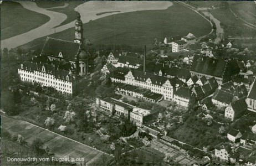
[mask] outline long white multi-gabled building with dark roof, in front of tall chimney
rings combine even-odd
[[[167,77],[142,72],[139,70],[130,70],[124,77],[117,78],[111,76],[112,82],[134,85],[149,89],[151,92],[163,95],[164,100],[172,101],[173,92],[175,92],[184,83],[177,77],[169,79]]]

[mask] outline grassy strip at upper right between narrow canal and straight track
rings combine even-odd
[[[254,37],[256,35],[255,29],[245,26],[244,22],[235,18],[229,9],[214,9],[210,13],[221,22],[226,37]]]

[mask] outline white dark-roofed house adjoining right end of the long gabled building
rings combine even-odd
[[[188,107],[190,104],[196,102],[196,97],[192,90],[188,87],[180,87],[176,92],[174,92],[174,100],[178,105]]]

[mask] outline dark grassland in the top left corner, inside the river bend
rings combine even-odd
[[[43,25],[49,17],[24,9],[17,2],[1,4],[1,40],[14,37]]]

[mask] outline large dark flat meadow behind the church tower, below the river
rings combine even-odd
[[[173,2],[166,10],[119,13],[84,24],[85,38],[93,44],[128,44],[153,47],[155,38],[163,41],[172,35],[196,37],[211,32],[211,25],[197,13]],[[74,39],[74,28],[50,35],[65,40]],[[23,49],[42,49],[45,37],[21,46]]]

